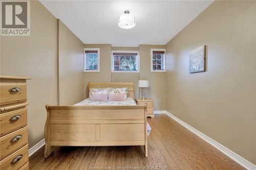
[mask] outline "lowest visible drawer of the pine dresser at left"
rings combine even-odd
[[[19,159],[18,159],[19,158]],[[16,162],[15,162],[16,161]],[[0,161],[0,169],[16,170],[28,162],[28,144]]]

